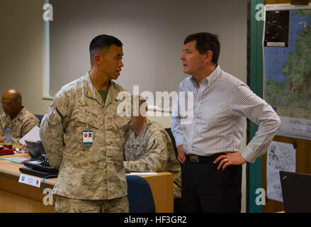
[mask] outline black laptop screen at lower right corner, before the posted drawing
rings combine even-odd
[[[311,175],[280,171],[285,213],[311,213]]]

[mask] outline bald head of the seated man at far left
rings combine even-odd
[[[11,116],[12,119],[15,118],[19,112],[21,112],[21,109],[23,109],[21,93],[16,89],[9,89],[4,92],[1,103],[4,113]]]

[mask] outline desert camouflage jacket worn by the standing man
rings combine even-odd
[[[73,199],[115,199],[127,195],[124,135],[133,117],[117,114],[123,87],[111,81],[106,104],[89,73],[57,92],[40,126],[50,165],[59,168],[53,194]],[[89,125],[93,145],[83,145]]]

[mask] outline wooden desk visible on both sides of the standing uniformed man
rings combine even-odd
[[[16,153],[15,155],[3,155],[0,157],[10,158],[30,156],[28,154]],[[21,175],[21,172],[19,171],[20,167],[23,167],[23,165],[0,160],[0,212],[55,212],[55,202],[53,202],[53,205],[45,206],[43,204],[43,198],[47,195],[43,194],[42,183],[40,188],[38,188],[18,182]],[[158,172],[158,175],[140,176],[144,177],[150,185],[154,197],[156,212],[173,212],[173,175],[169,172]],[[45,179],[45,188],[52,189],[55,183],[56,178]]]

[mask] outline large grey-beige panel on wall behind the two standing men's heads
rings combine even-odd
[[[77,4],[79,2],[79,4]],[[91,2],[91,4],[90,4]],[[247,78],[247,1],[54,0],[50,22],[50,83],[55,94],[89,70],[89,43],[99,34],[123,42],[124,67],[117,82],[132,93],[176,91],[188,75],[181,60],[187,35],[219,35],[220,66]]]

